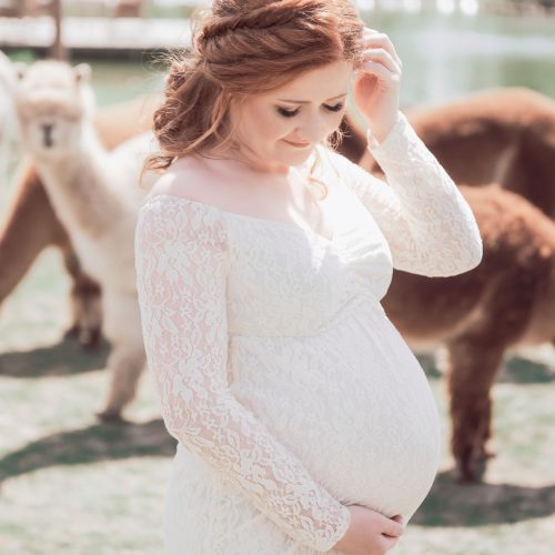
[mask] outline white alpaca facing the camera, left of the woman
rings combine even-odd
[[[18,85],[24,144],[84,270],[102,286],[104,334],[111,343],[108,401],[98,415],[121,417],[134,396],[145,355],[135,291],[133,239],[139,206],[154,175],[139,186],[152,147],[141,135],[109,153],[91,122],[90,68],[33,64]]]

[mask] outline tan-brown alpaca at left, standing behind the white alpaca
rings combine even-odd
[[[101,109],[94,123],[103,144],[113,149],[149,129],[154,105],[155,99],[142,97]],[[0,226],[0,303],[21,281],[40,252],[51,245],[62,250],[64,265],[72,279],[72,324],[67,333],[78,334],[83,345],[94,345],[101,329],[100,289],[81,270],[68,233],[56,216],[34,168],[24,162]]]

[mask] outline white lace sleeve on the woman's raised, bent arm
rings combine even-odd
[[[381,144],[369,132],[369,149],[387,183],[332,155],[387,240],[393,266],[428,276],[475,268],[482,260],[482,239],[474,214],[405,115],[397,112],[397,122]]]

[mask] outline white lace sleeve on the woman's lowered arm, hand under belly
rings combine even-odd
[[[225,222],[211,206],[169,201],[150,199],[135,231],[144,345],[165,426],[286,534],[329,551],[349,527],[347,507],[228,387]]]

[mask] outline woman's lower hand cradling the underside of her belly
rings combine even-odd
[[[392,549],[403,534],[403,517],[386,516],[363,507],[347,506],[351,524],[343,537],[333,546],[345,555],[382,555]]]

